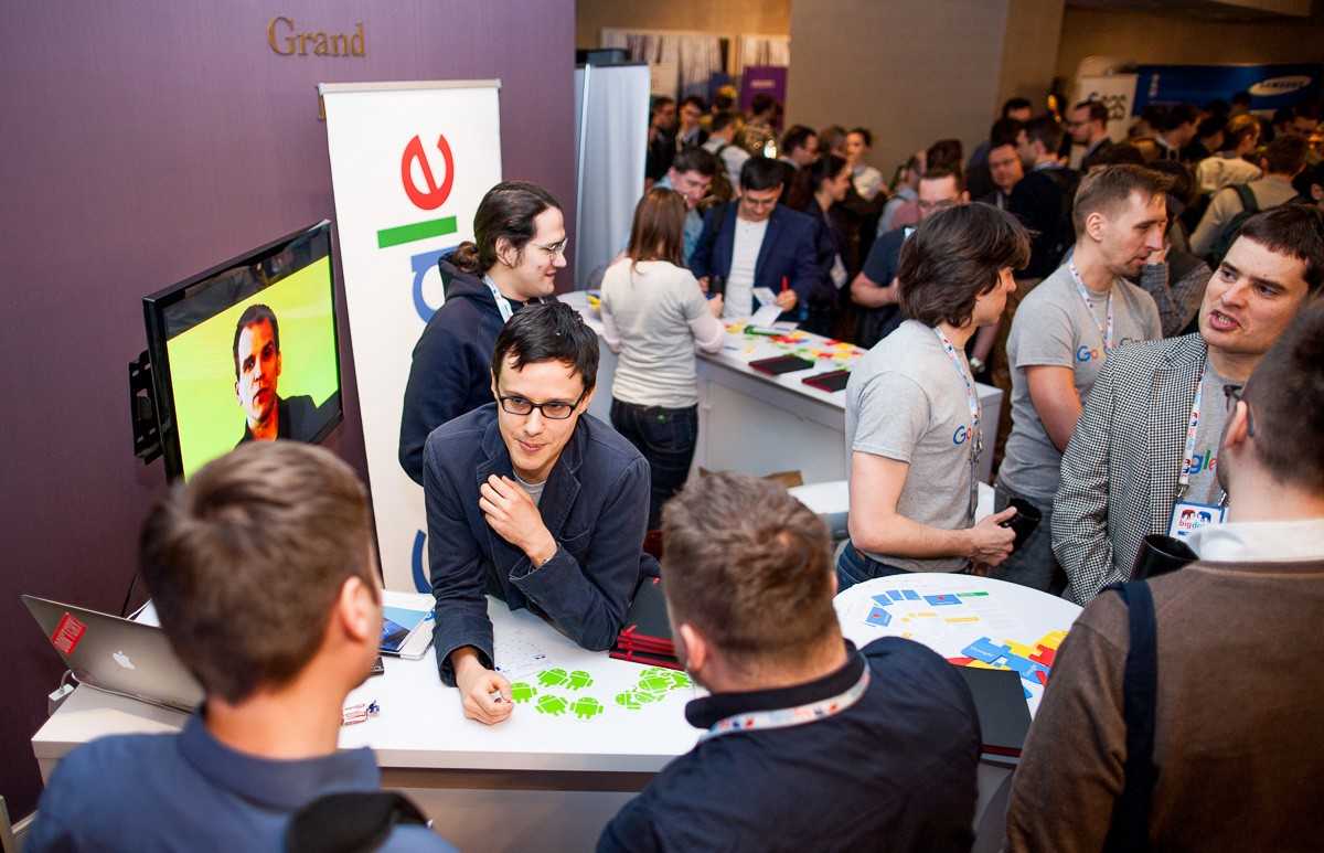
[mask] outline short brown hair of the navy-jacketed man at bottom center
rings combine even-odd
[[[777,483],[691,478],[662,510],[662,542],[673,621],[736,665],[794,660],[837,625],[828,527]]]

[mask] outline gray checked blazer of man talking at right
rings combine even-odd
[[[1053,552],[1076,603],[1129,580],[1141,540],[1168,532],[1205,355],[1198,334],[1148,340],[1099,371],[1053,502]]]

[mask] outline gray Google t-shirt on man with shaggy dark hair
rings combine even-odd
[[[961,370],[969,376],[964,362]],[[973,383],[974,380],[970,379]],[[851,453],[873,453],[910,464],[896,511],[939,527],[964,530],[970,518],[970,407],[933,330],[906,321],[850,372],[846,384],[846,470]],[[912,572],[953,572],[965,558],[919,560],[869,556]]]

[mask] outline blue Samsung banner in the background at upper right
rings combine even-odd
[[[1136,99],[1132,115],[1151,103],[1204,106],[1222,98],[1231,101],[1238,91],[1250,93],[1250,109],[1272,111],[1278,107],[1315,102],[1320,95],[1324,65],[1141,65],[1136,69]]]

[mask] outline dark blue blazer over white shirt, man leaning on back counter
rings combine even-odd
[[[699,245],[690,258],[690,272],[695,278],[704,276],[731,276],[731,253],[736,240],[736,205],[730,201],[708,211],[703,220],[703,233]],[[806,213],[797,213],[779,204],[768,217],[768,230],[764,232],[763,246],[753,268],[753,286],[769,287],[773,293],[781,289],[785,276],[792,290],[800,298],[796,313],[809,305],[809,297],[820,279],[818,268],[818,224]],[[757,309],[757,299],[755,301]]]

